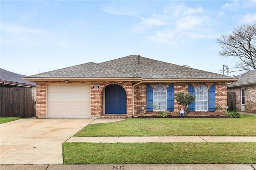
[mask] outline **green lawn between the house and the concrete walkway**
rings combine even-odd
[[[130,118],[84,127],[74,136],[256,136],[256,116],[221,118]]]

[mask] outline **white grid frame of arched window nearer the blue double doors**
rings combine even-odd
[[[158,90],[157,87],[164,87],[164,88],[161,88],[161,89],[158,88],[159,91],[156,91],[156,90]],[[164,89],[164,91],[162,91],[163,89]],[[158,94],[159,93],[163,94],[163,92],[165,92],[165,95],[157,95],[157,97],[161,97],[162,100],[155,100],[155,92],[157,92]],[[163,97],[165,97],[165,100],[163,100]],[[158,105],[158,109],[155,109],[154,103],[156,103],[156,102],[165,103],[165,105]],[[163,107],[165,107],[165,108],[163,109]],[[156,85],[153,89],[153,111],[166,111],[166,110],[167,110],[167,89],[164,85],[159,84],[159,85]]]

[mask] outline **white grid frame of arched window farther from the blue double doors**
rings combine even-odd
[[[200,91],[198,91],[199,87],[201,87]],[[202,89],[202,87],[204,87],[204,88]],[[206,91],[202,91],[204,89],[206,89]],[[202,95],[200,95],[200,94],[202,94]],[[204,94],[206,94],[206,95],[204,95]],[[199,95],[199,97],[198,97],[198,95]],[[209,90],[206,87],[206,85],[200,84],[200,85],[196,86],[196,88],[195,88],[195,96],[196,96],[196,99],[195,99],[195,111],[208,111],[208,109],[209,109]],[[197,99],[200,99],[201,97],[203,97],[203,100],[197,100]],[[206,98],[206,99],[204,99],[204,98]],[[199,104],[198,104],[198,102],[199,102]],[[200,104],[201,102],[203,102],[203,103],[206,102],[206,105],[204,105],[204,104],[201,105]],[[204,109],[205,106],[206,106],[206,109]]]

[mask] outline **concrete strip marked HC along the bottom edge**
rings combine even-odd
[[[1,165],[1,170],[255,170],[256,164]]]

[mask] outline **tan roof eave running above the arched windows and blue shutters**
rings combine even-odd
[[[143,79],[143,82],[234,82],[238,79]]]

